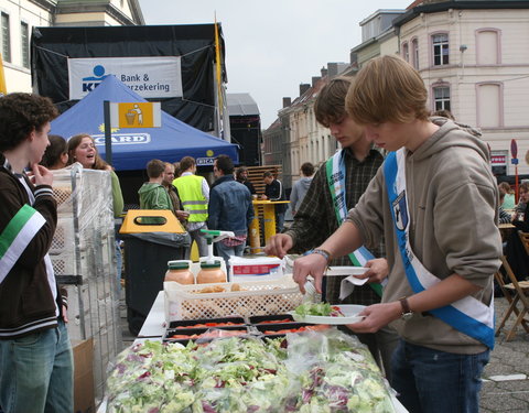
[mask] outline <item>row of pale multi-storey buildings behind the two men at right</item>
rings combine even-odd
[[[369,59],[399,54],[424,79],[432,111],[447,109],[456,121],[482,130],[499,180],[514,181],[516,170],[529,174],[529,1],[414,1],[406,11],[378,10],[360,26],[363,42],[352,48],[350,64],[327,78],[355,76]],[[300,98],[279,111],[288,124],[280,154],[285,172],[291,171],[285,185],[298,178],[299,162],[323,162],[334,142],[315,121],[317,90],[311,93],[309,98],[300,90]]]

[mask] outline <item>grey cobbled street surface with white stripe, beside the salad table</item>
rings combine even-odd
[[[496,319],[499,323],[507,308],[507,301],[495,298],[495,305]],[[134,337],[128,330],[127,313],[121,314],[123,345],[129,346]],[[482,413],[529,412],[529,334],[526,334],[523,328],[519,327],[515,338],[509,343],[504,341],[503,334],[497,337],[496,347],[483,378]]]

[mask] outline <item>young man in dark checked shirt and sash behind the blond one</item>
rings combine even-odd
[[[384,162],[384,157],[366,139],[360,128],[345,112],[345,96],[350,85],[350,78],[332,79],[320,91],[315,102],[316,119],[341,144],[342,151],[331,157],[327,163],[336,164],[336,172],[325,165],[314,175],[311,186],[295,214],[294,222],[284,233],[273,236],[266,247],[266,252],[282,258],[288,251],[303,253],[320,246],[342,224],[348,209],[353,208],[367,188],[373,176]],[[336,162],[334,162],[337,160]],[[335,191],[335,185],[342,191]],[[342,197],[341,197],[342,195]],[[343,199],[343,200],[341,200]],[[384,242],[377,242],[371,249],[375,257],[384,257]],[[355,257],[334,257],[330,265],[357,265]],[[344,301],[339,300],[339,285],[345,276],[326,279],[326,301],[331,304],[370,305],[380,302],[377,287],[388,272],[386,260],[364,260],[364,267],[370,267],[365,275],[370,284],[355,286],[353,294]],[[379,284],[378,284],[379,287]],[[369,346],[374,357],[381,361],[389,378],[391,354],[397,344],[397,335],[392,330],[382,330],[377,336],[359,335],[363,343]]]

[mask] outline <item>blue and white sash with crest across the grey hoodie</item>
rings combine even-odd
[[[404,161],[403,149],[390,152],[384,162],[384,175],[406,276],[417,294],[432,287],[441,280],[430,273],[411,250]],[[431,309],[429,313],[490,349],[494,348],[494,301],[490,306],[487,306],[472,296],[466,296],[451,305]]]

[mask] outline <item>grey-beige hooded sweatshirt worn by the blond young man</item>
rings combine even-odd
[[[440,129],[414,153],[406,153],[410,244],[422,264],[441,280],[456,273],[482,287],[473,294],[493,305],[493,274],[499,268],[501,240],[498,189],[485,142],[468,128],[434,118]],[[386,236],[390,268],[382,302],[413,295],[396,242],[384,167],[349,211],[366,246]],[[455,354],[478,354],[486,347],[430,314],[414,313],[391,324],[407,341]]]

